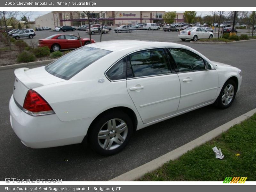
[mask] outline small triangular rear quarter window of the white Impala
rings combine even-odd
[[[126,79],[126,63],[127,59],[124,57],[108,70],[106,76],[112,81]]]

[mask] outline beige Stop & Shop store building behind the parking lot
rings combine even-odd
[[[137,23],[164,23],[163,15],[165,11],[98,11],[98,12],[71,12],[71,11],[53,11],[42,15],[36,19],[36,27],[47,26],[54,28],[57,26],[82,26],[90,22],[101,23],[108,26],[118,26],[122,24]],[[184,14],[177,13],[174,22],[183,22]]]

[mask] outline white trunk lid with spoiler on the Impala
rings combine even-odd
[[[13,87],[13,97],[20,106],[23,106],[29,89],[66,81],[65,79],[61,79],[48,73],[44,69],[44,66],[33,69],[15,69],[14,74],[15,81]]]

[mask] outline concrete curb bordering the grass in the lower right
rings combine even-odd
[[[213,138],[220,135],[222,132],[228,131],[230,127],[232,127],[235,124],[239,124],[248,117],[251,117],[254,113],[256,113],[256,108],[252,109],[251,111],[236,117],[235,119],[229,121],[228,123],[225,123],[216,129],[213,129],[212,131],[202,135],[201,137],[198,137],[197,139],[190,141],[189,143],[174,149],[173,151],[160,156],[144,165],[141,165],[140,167],[137,167],[129,172],[126,172],[120,176],[117,176],[109,181],[134,181],[142,177],[148,172],[152,172],[161,166],[163,166],[164,163],[169,162],[170,160],[175,160],[179,158],[184,153],[188,152],[189,150],[192,150],[193,148],[200,146],[204,144],[205,142],[212,140]]]

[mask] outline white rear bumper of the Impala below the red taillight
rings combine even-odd
[[[49,148],[81,143],[93,119],[60,121],[56,114],[30,116],[9,102],[10,122],[21,142],[30,148]]]

